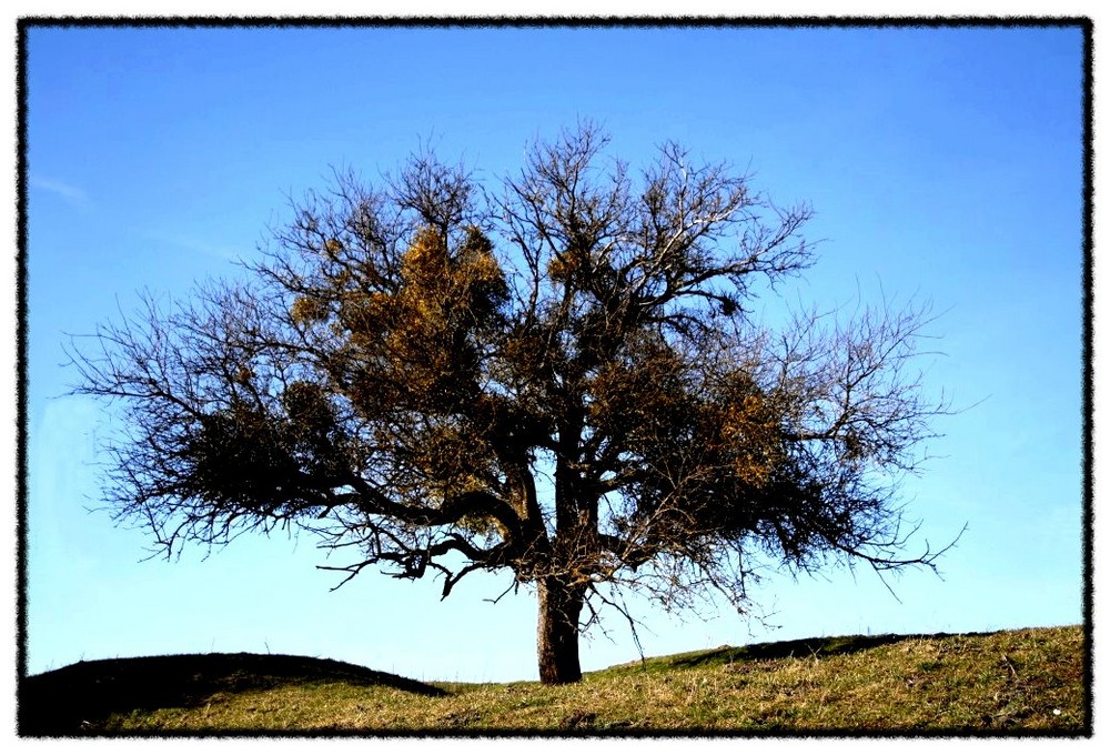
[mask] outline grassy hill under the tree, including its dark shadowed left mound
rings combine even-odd
[[[719,647],[581,684],[425,684],[336,661],[208,654],[23,680],[20,734],[1090,734],[1082,627]]]

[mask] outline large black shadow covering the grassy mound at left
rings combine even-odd
[[[340,661],[252,653],[165,655],[77,663],[22,680],[21,736],[71,736],[113,713],[194,707],[216,692],[305,682],[389,686],[441,697],[440,687]]]

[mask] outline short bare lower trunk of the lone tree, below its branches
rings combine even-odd
[[[538,587],[539,681],[544,684],[579,682],[578,614],[582,613],[585,592],[558,577],[545,577],[539,581]]]

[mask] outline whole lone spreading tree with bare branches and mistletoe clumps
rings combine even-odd
[[[396,577],[535,588],[546,683],[623,590],[738,608],[761,570],[906,557],[894,492],[946,411],[921,308],[748,309],[813,262],[807,207],[589,124],[485,193],[424,151],[292,203],[240,283],[100,325],[79,392],[122,407],[107,497],[167,555],[303,528]],[[941,551],[942,552],[942,551]],[[625,616],[633,617],[624,612]]]

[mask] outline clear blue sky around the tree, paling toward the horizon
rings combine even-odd
[[[535,603],[507,575],[366,573],[311,538],[145,561],[98,505],[100,407],[65,395],[65,333],[235,274],[286,194],[367,179],[422,139],[494,179],[578,118],[633,164],[677,139],[811,202],[820,262],[784,294],[931,300],[936,457],[904,485],[929,572],[771,578],[769,624],[638,606],[645,653],[1082,620],[1082,38],[1078,29],[34,29],[27,58],[28,670],[273,652],[425,680],[535,678]],[[765,300],[768,314],[778,304]],[[205,557],[208,556],[208,557]],[[586,670],[636,657],[626,624]]]

